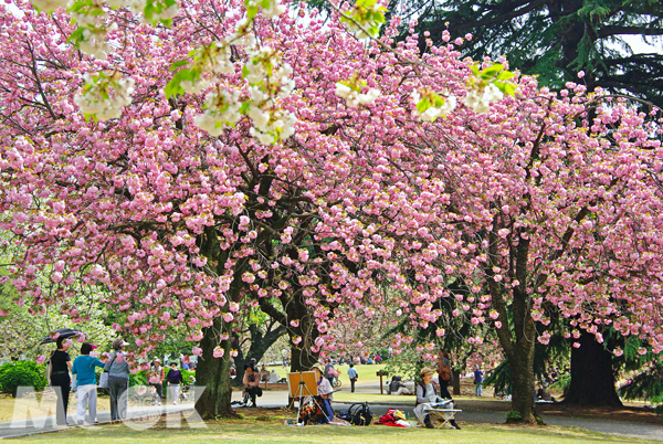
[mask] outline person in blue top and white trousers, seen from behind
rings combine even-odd
[[[78,397],[78,408],[76,412],[76,422],[78,425],[83,425],[85,422],[85,410],[90,409],[90,423],[96,424],[96,374],[94,372],[95,367],[104,368],[105,364],[97,358],[90,356],[90,352],[94,350],[96,346],[90,342],[83,342],[81,345],[81,355],[74,359],[72,366],[72,374],[77,376],[76,380],[76,395]]]

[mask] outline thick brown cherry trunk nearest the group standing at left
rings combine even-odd
[[[219,345],[222,332],[231,334],[229,323],[223,323],[219,317],[211,327],[203,329],[200,341],[202,356],[196,367],[197,385],[206,389],[196,402],[196,410],[203,420],[213,420],[217,416],[234,416],[230,405],[232,388],[230,387],[230,339],[221,341],[225,350],[223,358],[214,358],[213,350]]]

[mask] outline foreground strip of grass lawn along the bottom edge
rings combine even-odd
[[[352,444],[592,444],[592,443],[645,443],[631,437],[618,437],[577,429],[515,427],[507,425],[466,425],[461,431],[397,429],[381,425],[369,427],[309,425],[285,426],[266,422],[224,421],[207,429],[157,429],[136,431],[126,425],[105,425],[75,429],[19,438],[20,443],[98,444],[98,443],[201,443],[231,440],[233,443],[352,443]]]

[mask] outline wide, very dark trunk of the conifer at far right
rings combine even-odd
[[[614,389],[612,355],[594,336],[581,330],[580,348],[571,348],[571,384],[567,404],[622,406]]]

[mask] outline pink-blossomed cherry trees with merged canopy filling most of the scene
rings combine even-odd
[[[230,412],[244,306],[286,326],[307,367],[356,310],[396,305],[428,328],[462,277],[461,309],[494,320],[529,422],[544,302],[592,334],[619,313],[614,328],[663,348],[646,116],[460,60],[448,33],[419,54],[414,35],[394,43],[398,18],[361,40],[383,17],[370,0],[325,18],[274,1],[46,3],[0,12],[0,229],[25,250],[6,279],[72,316],[76,286],[103,287],[134,369],[188,328],[203,415]]]

